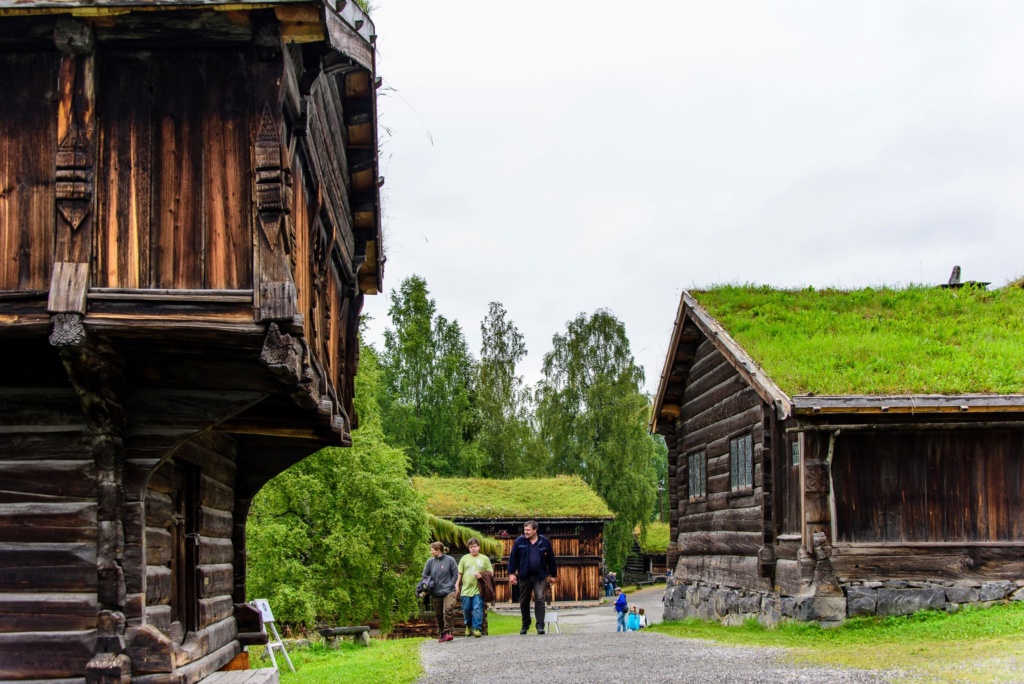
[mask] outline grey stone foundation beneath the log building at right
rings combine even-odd
[[[723,625],[756,619],[774,627],[783,618],[792,618],[834,627],[855,615],[955,612],[965,605],[984,607],[1008,600],[1024,601],[1024,581],[857,582],[841,586],[842,596],[782,596],[672,578],[666,587],[665,619],[697,617]]]

